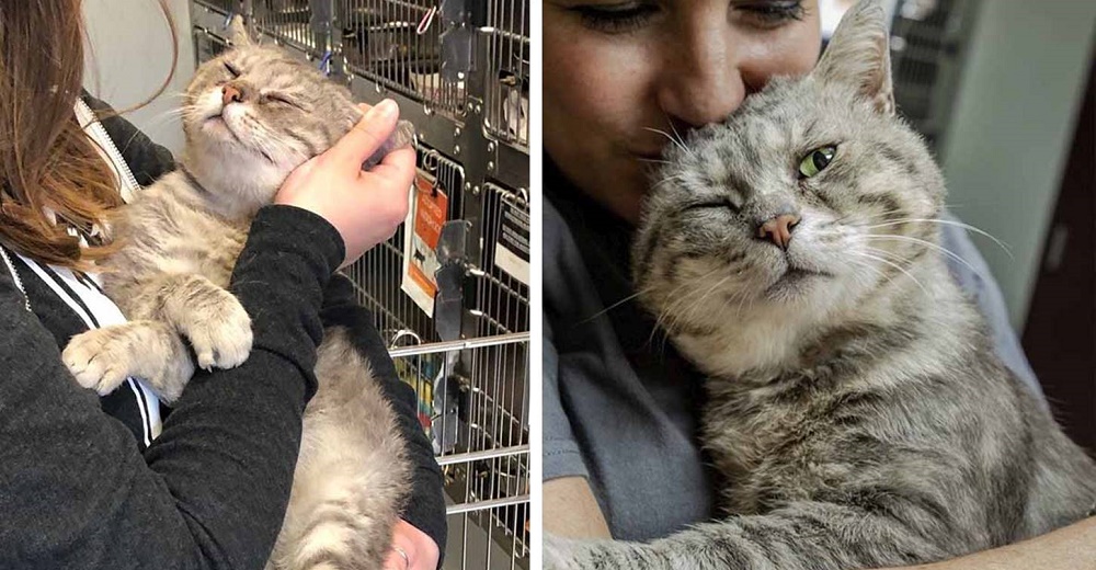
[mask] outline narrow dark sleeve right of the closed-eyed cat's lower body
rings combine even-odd
[[[373,324],[373,314],[357,303],[354,285],[349,278],[340,274],[331,277],[323,294],[320,317],[324,326],[345,327],[354,346],[373,367],[385,398],[396,412],[398,429],[408,443],[408,458],[414,466],[411,495],[402,518],[425,533],[438,552],[444,552],[446,521],[442,470],[434,460],[430,440],[419,424],[419,400],[414,390],[396,374],[396,366]]]

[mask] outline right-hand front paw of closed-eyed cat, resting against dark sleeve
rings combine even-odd
[[[198,367],[235,368],[251,354],[251,317],[232,294],[217,303],[217,309],[196,319],[187,331]]]

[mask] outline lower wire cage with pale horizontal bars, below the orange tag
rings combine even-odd
[[[445,568],[528,568],[529,334],[396,347],[445,476]],[[426,401],[423,401],[423,397]]]

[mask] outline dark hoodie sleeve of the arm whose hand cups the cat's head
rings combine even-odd
[[[0,272],[0,568],[262,568],[343,256],[322,218],[260,212],[231,285],[253,318],[251,358],[197,374],[144,457]]]

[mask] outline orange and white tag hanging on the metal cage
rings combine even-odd
[[[438,267],[434,249],[449,212],[449,198],[436,178],[420,170],[411,205],[403,244],[403,290],[426,315],[433,316],[437,294],[434,272]]]

